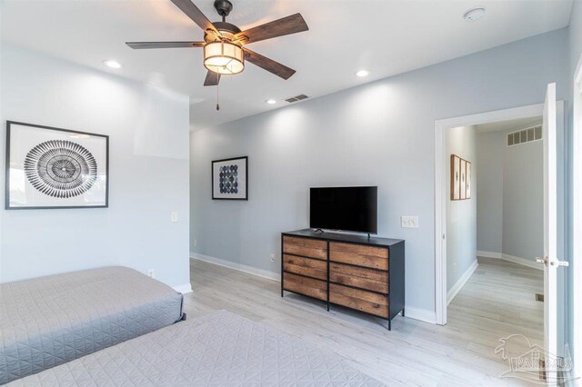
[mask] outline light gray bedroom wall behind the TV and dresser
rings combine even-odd
[[[567,55],[562,29],[192,134],[191,250],[278,272],[310,186],[374,184],[378,233],[406,239],[406,304],[434,311],[435,120],[539,104],[550,82],[564,99]],[[238,155],[249,201],[212,201],[211,160]]]

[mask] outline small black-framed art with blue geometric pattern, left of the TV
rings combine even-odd
[[[248,156],[212,162],[212,199],[248,200]]]

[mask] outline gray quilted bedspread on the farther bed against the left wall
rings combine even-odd
[[[182,294],[126,267],[0,284],[0,384],[170,325]]]

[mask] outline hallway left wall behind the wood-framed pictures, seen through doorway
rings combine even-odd
[[[447,129],[447,156],[471,163],[471,198],[451,201],[451,169],[447,168],[447,291],[477,261],[477,199],[480,169],[475,126]]]

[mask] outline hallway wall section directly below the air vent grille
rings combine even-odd
[[[543,142],[504,149],[502,253],[533,260],[544,254]]]

